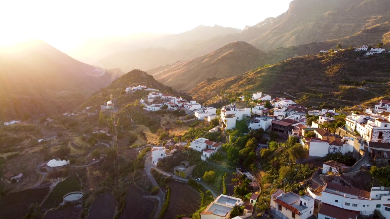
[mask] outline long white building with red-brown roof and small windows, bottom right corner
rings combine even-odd
[[[372,187],[371,192],[367,192],[328,182],[321,193],[321,201],[345,210],[358,211],[363,215],[370,215],[374,210],[379,210],[383,216],[390,218],[388,187]]]

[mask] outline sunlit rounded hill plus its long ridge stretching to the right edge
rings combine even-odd
[[[288,58],[317,53],[322,49],[332,49],[339,43],[343,47],[376,45],[378,42],[386,42],[389,30],[390,24],[387,22],[342,39],[272,50],[259,50],[246,42],[233,42],[207,55],[150,69],[147,72],[154,75],[161,83],[178,90],[188,90],[207,78],[229,78],[261,65],[275,64]]]

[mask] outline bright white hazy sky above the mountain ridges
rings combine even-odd
[[[0,44],[39,38],[59,49],[91,37],[180,33],[198,25],[244,28],[291,0],[1,0]]]

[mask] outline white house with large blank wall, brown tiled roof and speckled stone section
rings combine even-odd
[[[306,141],[305,145],[309,147],[310,157],[325,157],[327,154],[340,152],[345,154],[353,152],[353,141],[347,139],[339,139],[334,136],[321,138],[311,138]]]

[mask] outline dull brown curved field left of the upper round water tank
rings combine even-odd
[[[21,172],[26,173],[20,182],[12,184],[12,189],[19,190],[35,185],[40,177],[39,173],[35,171],[35,164],[42,161],[43,157],[40,153],[19,155],[8,161],[4,166],[4,170],[16,175]]]

